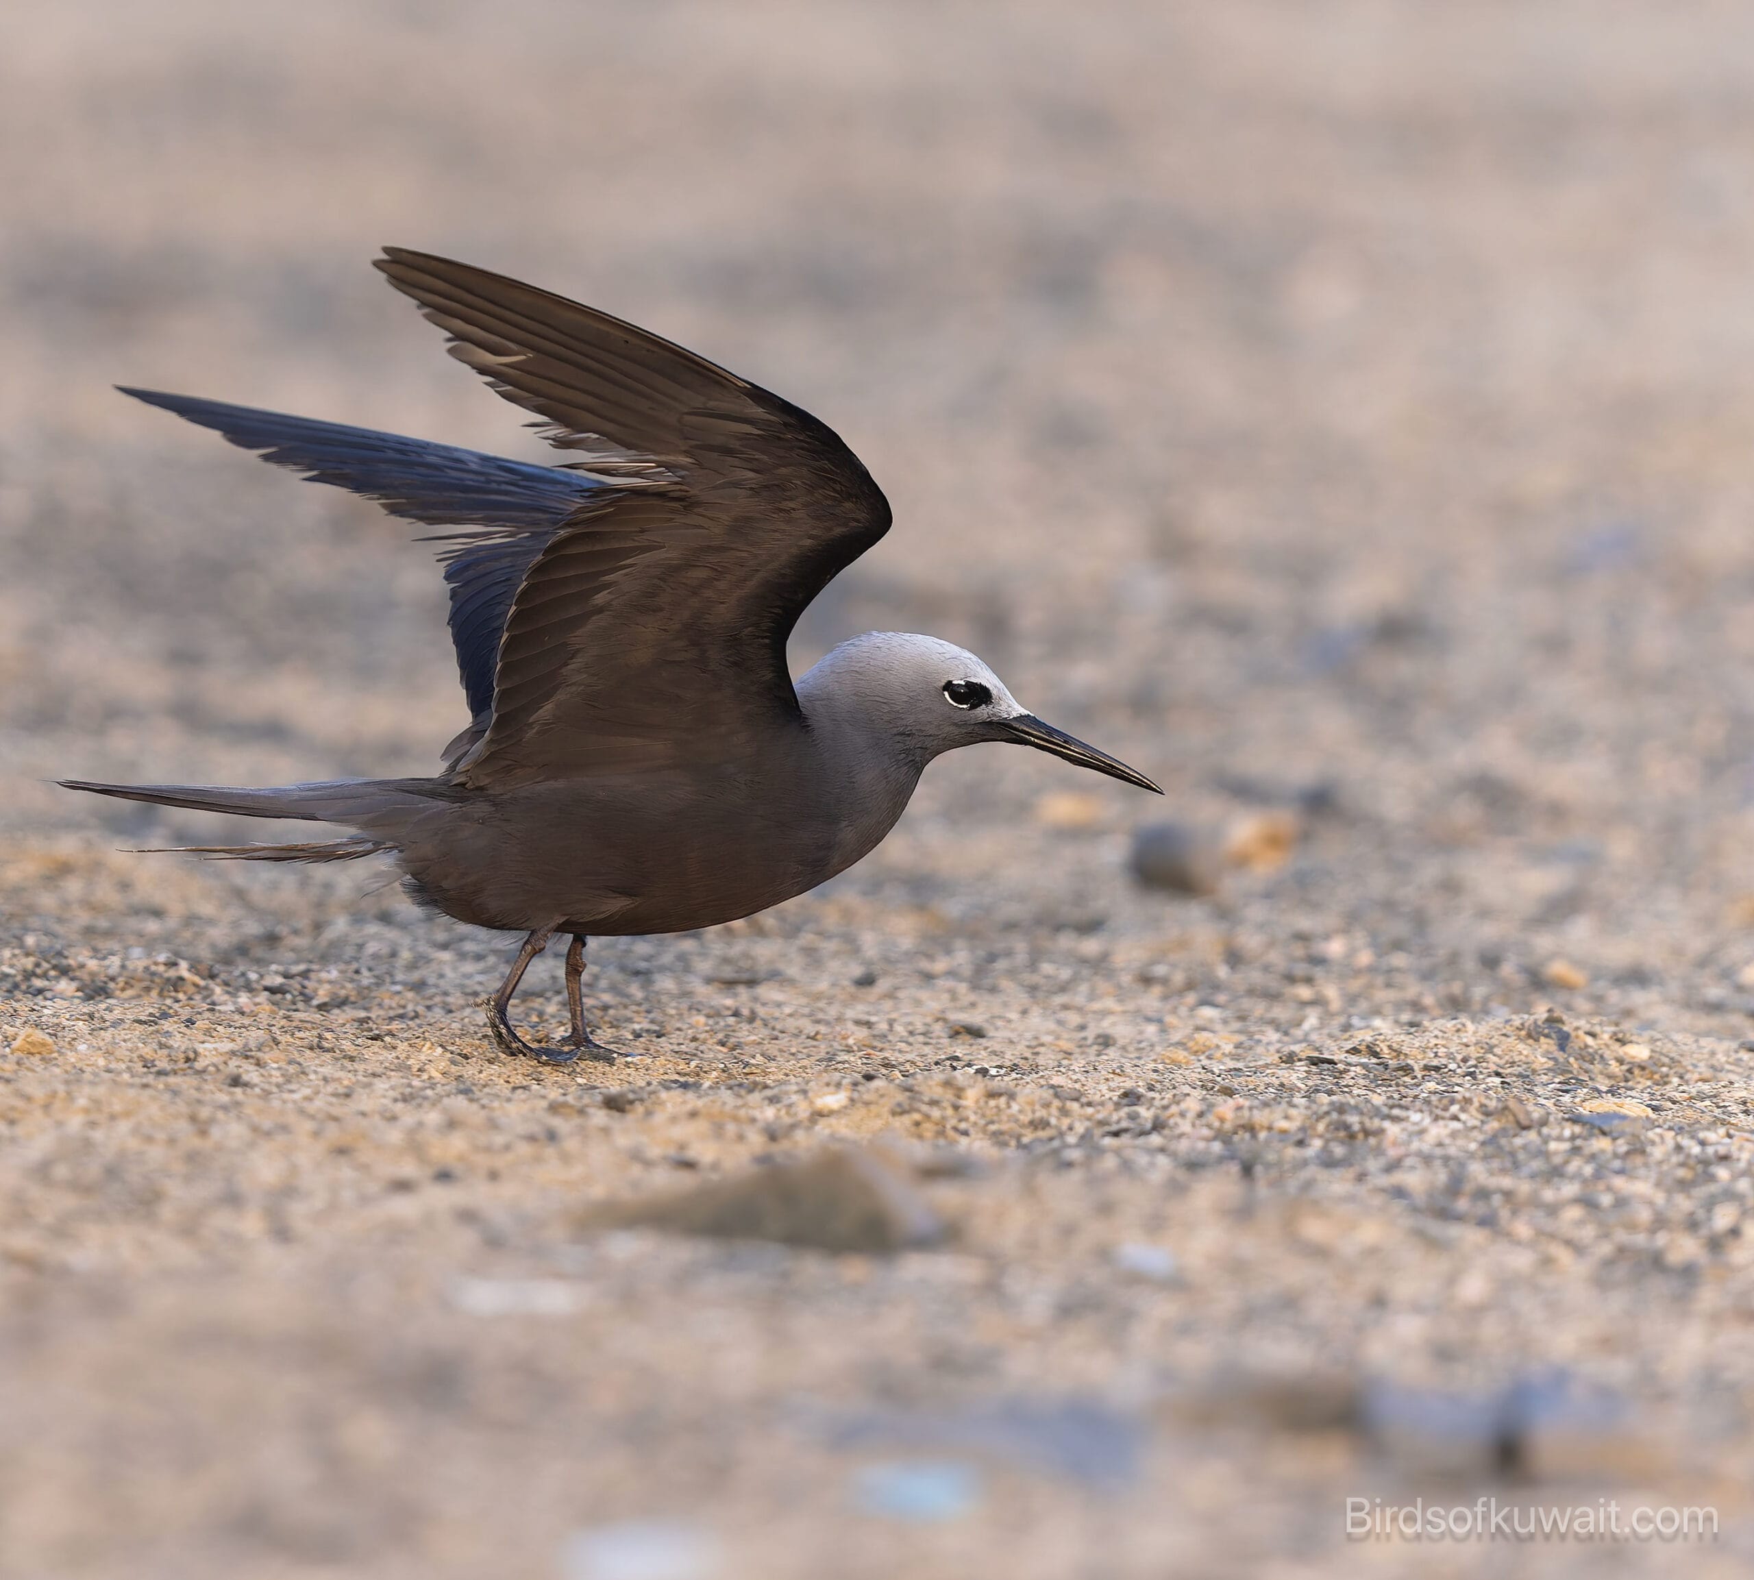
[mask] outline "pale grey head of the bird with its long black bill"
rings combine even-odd
[[[877,728],[905,744],[921,763],[959,745],[996,740],[1033,745],[1163,794],[1138,770],[1044,724],[986,663],[937,637],[866,631],[842,642],[798,682],[798,696],[810,714],[828,710]]]

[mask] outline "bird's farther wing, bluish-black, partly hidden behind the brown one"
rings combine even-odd
[[[460,756],[486,733],[500,635],[517,584],[554,531],[582,507],[621,486],[588,472],[509,461],[372,428],[317,423],[158,389],[125,388],[123,395],[212,428],[240,449],[303,473],[309,482],[326,482],[375,500],[391,516],[456,528],[430,538],[442,545],[438,558],[451,587],[451,640],[472,714],[472,724],[453,742],[451,756]],[[623,466],[642,465],[637,456],[616,459]]]

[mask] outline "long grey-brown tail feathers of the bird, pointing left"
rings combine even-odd
[[[63,779],[65,789],[91,791],[123,801],[158,807],[189,807],[196,812],[230,812],[235,817],[293,817],[309,822],[340,822],[361,829],[344,840],[295,845],[179,845],[195,856],[232,861],[356,861],[396,849],[396,835],[421,810],[444,800],[440,780],[337,779],[321,784],[286,784],[274,789],[239,789],[203,784],[95,784]]]

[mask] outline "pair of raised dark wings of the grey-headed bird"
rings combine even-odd
[[[786,638],[889,505],[809,412],[645,330],[465,263],[377,267],[524,407],[560,466],[154,391],[312,482],[431,526],[470,786],[724,763],[798,721]]]

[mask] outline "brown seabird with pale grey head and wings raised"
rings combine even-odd
[[[793,679],[798,617],[891,524],[882,491],[824,423],[507,275],[405,247],[374,263],[565,459],[118,388],[433,528],[470,710],[442,770],[267,789],[61,786],[347,829],[179,849],[388,854],[416,903],[523,935],[486,1001],[488,1029],[503,1054],[551,1064],[619,1057],[589,1033],[589,938],[695,931],[814,889],[877,847],[947,751],[1028,745],[1161,794],[937,637],[866,631]],[[561,936],[570,1035],[530,1042],[512,996]]]

